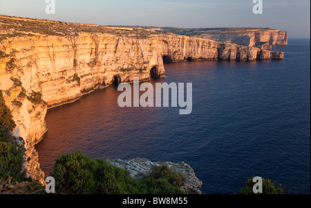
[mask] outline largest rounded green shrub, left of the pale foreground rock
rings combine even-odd
[[[138,194],[144,187],[129,171],[109,165],[106,160],[90,159],[82,152],[59,156],[52,176],[58,193]]]

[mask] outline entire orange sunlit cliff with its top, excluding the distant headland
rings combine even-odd
[[[25,141],[28,176],[44,183],[35,145],[46,111],[112,83],[164,76],[164,61],[283,59],[232,43],[155,32],[0,16],[0,90]]]

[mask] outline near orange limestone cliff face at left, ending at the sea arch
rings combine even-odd
[[[14,37],[1,41],[0,89],[17,123],[14,135],[26,142],[28,175],[39,176],[34,145],[46,132],[46,110],[70,103],[113,81],[164,75],[162,57],[152,40],[81,35]],[[148,69],[148,70],[147,70]]]

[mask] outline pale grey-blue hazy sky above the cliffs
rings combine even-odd
[[[0,14],[98,25],[274,28],[310,38],[310,0],[262,0],[263,14],[253,13],[253,0],[54,0],[55,14],[46,14],[46,1],[0,0]]]

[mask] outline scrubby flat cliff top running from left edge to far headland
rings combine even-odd
[[[144,39],[151,34],[178,34],[188,37],[201,37],[205,34],[251,34],[254,32],[279,32],[271,28],[167,28],[140,26],[102,26],[86,23],[68,23],[46,19],[30,19],[0,15],[0,40],[20,35],[77,36],[81,34],[112,34],[115,36]],[[225,39],[224,39],[225,40]],[[216,40],[216,41],[224,41]]]

